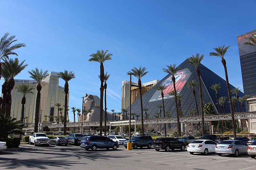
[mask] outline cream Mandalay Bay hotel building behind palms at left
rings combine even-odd
[[[23,94],[17,92],[15,87],[22,83],[29,84],[30,87],[34,87],[33,93],[28,93],[26,95],[26,104],[25,104],[25,112],[24,118],[28,117],[28,124],[34,123],[35,119],[35,111],[36,111],[36,81],[35,80],[24,80],[24,79],[14,79],[15,86],[12,90],[12,108],[11,108],[11,115],[12,117],[17,118],[20,120],[21,118],[21,99]],[[61,107],[64,108],[64,100],[65,100],[65,92],[64,87],[59,85],[59,77],[58,72],[50,72],[46,78],[44,78],[42,82],[42,90],[41,90],[41,101],[40,101],[40,112],[39,112],[39,122],[40,120],[45,120],[45,115],[48,117],[46,118],[47,122],[53,121],[53,118],[49,116],[57,116],[58,115],[58,108],[55,106],[56,103],[60,103]],[[68,94],[69,99],[69,94]],[[64,111],[64,109],[63,109]],[[42,114],[42,117],[41,117]],[[60,116],[60,115],[59,115]],[[40,118],[41,117],[41,118]],[[26,119],[23,120],[27,123]]]

